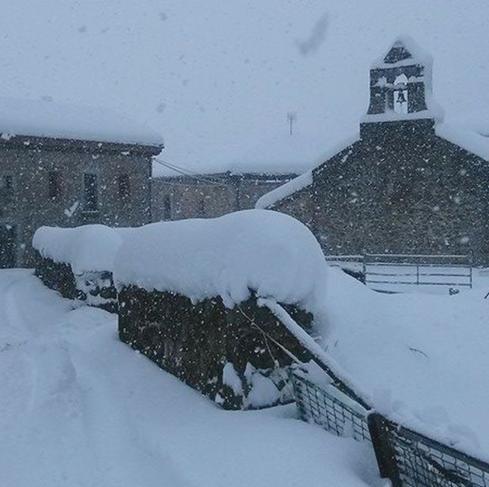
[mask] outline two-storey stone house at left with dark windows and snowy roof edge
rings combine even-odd
[[[46,118],[66,122],[73,116],[64,108],[49,111],[42,107],[39,127],[24,128],[18,120],[1,124],[0,268],[33,266],[32,236],[42,225],[151,221],[151,160],[162,149],[158,137],[129,126],[111,133],[97,127],[90,132],[82,124],[79,132],[78,126],[59,130]],[[99,113],[96,120],[114,127]]]

